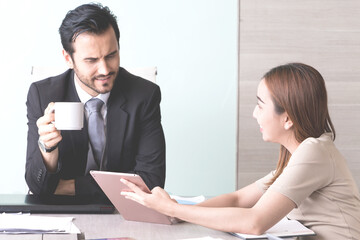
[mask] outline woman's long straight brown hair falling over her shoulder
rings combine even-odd
[[[325,132],[331,132],[335,140],[325,81],[315,68],[302,63],[289,63],[271,69],[263,78],[274,102],[275,112],[288,114],[299,143],[309,137],[318,138]],[[268,186],[280,176],[290,157],[291,153],[281,145],[275,175]]]

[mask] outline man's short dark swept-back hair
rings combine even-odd
[[[101,34],[109,26],[114,29],[119,44],[120,31],[116,16],[108,7],[104,7],[100,3],[89,3],[70,10],[59,28],[63,48],[72,56],[74,53],[73,42],[81,33]]]

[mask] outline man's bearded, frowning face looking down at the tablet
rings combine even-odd
[[[75,80],[91,96],[110,92],[119,71],[119,46],[115,32],[109,27],[104,33],[81,33],[73,43],[74,53],[63,51]]]

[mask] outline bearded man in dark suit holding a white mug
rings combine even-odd
[[[119,29],[107,7],[85,4],[68,12],[60,29],[69,70],[31,84],[27,98],[25,179],[34,194],[103,193],[89,170],[139,174],[150,189],[164,187],[165,140],[159,87],[119,67]],[[102,158],[94,158],[88,118],[79,131],[55,128],[54,102],[103,103]],[[97,163],[97,164],[94,164]],[[114,183],[116,184],[116,183]]]

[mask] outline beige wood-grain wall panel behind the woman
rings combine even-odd
[[[276,167],[277,144],[264,143],[252,119],[256,89],[270,68],[304,62],[323,75],[335,144],[360,186],[360,2],[240,0],[238,186]]]

